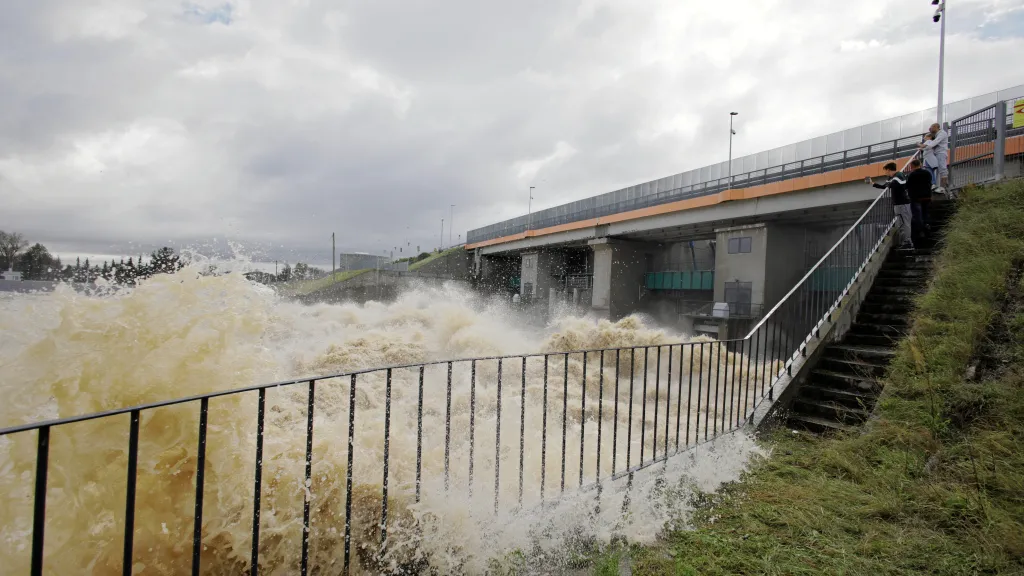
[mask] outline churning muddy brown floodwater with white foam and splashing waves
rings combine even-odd
[[[286,301],[241,274],[202,276],[185,269],[109,295],[84,296],[66,288],[48,294],[0,294],[0,426],[379,366],[688,339],[635,317],[617,323],[562,317],[544,328],[530,327],[504,303],[457,288],[411,290],[389,304],[307,306]],[[694,360],[705,370],[717,370],[710,365],[711,358],[691,359],[689,353],[679,358],[680,347],[674,351],[673,356],[664,348],[662,363],[668,364],[673,356],[677,374],[679,366],[691,366]],[[623,356],[617,373],[611,355],[603,366],[599,357],[591,355],[586,367],[581,355],[570,356],[567,365],[565,357],[551,357],[547,367],[543,358],[532,358],[525,375],[521,360],[507,360],[501,369],[501,388],[497,361],[477,363],[475,372],[469,363],[457,363],[450,409],[446,365],[426,368],[419,502],[415,494],[420,372],[395,370],[384,566],[419,561],[439,574],[482,574],[488,563],[518,550],[535,559],[539,571],[538,567],[554,567],[568,557],[566,542],[600,543],[615,536],[650,541],[666,526],[685,522],[686,491],[711,490],[736,479],[758,453],[749,438],[728,435],[688,456],[652,466],[634,480],[629,491],[624,483],[608,485],[600,506],[593,491],[573,490],[581,483],[581,440],[584,484],[608,477],[612,465],[623,469],[628,456],[637,462],[643,442],[637,430],[653,425],[653,409],[645,415],[640,410],[645,402],[651,407],[660,402],[662,410],[668,410],[658,423],[672,428],[672,441],[676,421],[683,422],[683,435],[696,433],[687,428],[692,410],[686,399],[679,404],[676,397],[665,398],[678,395],[681,387],[670,392],[673,387],[665,385],[660,396],[652,389],[646,401],[637,395],[634,409],[626,409],[629,379],[639,382],[645,372],[653,378],[654,348],[651,355],[646,363],[639,357],[631,363]],[[728,352],[719,356],[721,362],[736,363]],[[616,381],[622,382],[617,412]],[[298,572],[307,498],[311,573],[340,573],[350,385],[349,378],[317,382],[308,485],[307,387],[299,384],[266,393],[259,546],[263,574]],[[383,372],[359,376],[356,385],[351,470],[355,572],[381,570],[371,561],[380,534],[386,385]],[[724,396],[722,401],[724,406]],[[255,393],[210,402],[204,574],[241,574],[249,565],[256,406]],[[563,406],[567,407],[564,454]],[[447,410],[450,427],[444,418]],[[195,403],[142,414],[133,548],[136,574],[189,570],[198,421]],[[124,415],[53,429],[47,573],[121,573],[128,428]],[[630,436],[627,429],[632,430]],[[604,435],[600,450],[598,434]],[[524,447],[521,505],[520,442]],[[647,442],[644,449],[657,449],[650,439]],[[28,572],[35,453],[36,433],[0,438],[0,565],[6,567],[5,573]],[[565,495],[553,498],[561,492],[563,474]],[[548,501],[544,506],[539,505],[542,489]]]

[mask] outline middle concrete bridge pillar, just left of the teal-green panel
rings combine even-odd
[[[651,252],[651,247],[607,238],[589,244],[594,250],[591,310],[613,321],[636,312],[646,272],[645,254]]]

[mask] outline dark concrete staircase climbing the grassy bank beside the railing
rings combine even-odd
[[[812,433],[851,430],[863,423],[882,392],[880,378],[907,333],[914,298],[932,277],[938,241],[953,202],[933,202],[929,239],[910,252],[892,250],[843,341],[828,344],[797,390],[786,425]]]

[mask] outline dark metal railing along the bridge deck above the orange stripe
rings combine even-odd
[[[469,243],[483,242],[495,238],[502,238],[514,234],[521,234],[526,230],[540,230],[544,228],[599,218],[611,214],[618,214],[650,206],[659,206],[679,200],[699,198],[710,196],[733,188],[746,188],[753,186],[767,184],[802,176],[821,174],[833,170],[842,170],[855,166],[865,166],[884,160],[897,160],[912,155],[918,150],[918,145],[922,142],[924,134],[896,138],[881,143],[855,148],[844,152],[825,154],[807,160],[790,162],[761,170],[754,170],[742,174],[735,174],[731,177],[718,178],[706,182],[680,187],[666,192],[640,196],[623,202],[594,206],[591,208],[577,210],[572,213],[548,216],[540,216],[535,213],[529,223],[511,223],[514,220],[499,222],[484,229],[470,231],[468,233]]]

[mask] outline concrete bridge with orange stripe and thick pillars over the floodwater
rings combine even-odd
[[[1024,85],[952,102],[945,118],[1016,97]],[[878,195],[864,178],[909,160],[934,118],[921,111],[735,159],[732,176],[720,177],[723,162],[470,231],[474,278],[549,306],[574,300],[611,319],[642,311],[731,337],[863,213]],[[1007,121],[1002,153],[1019,171],[1024,129]]]

